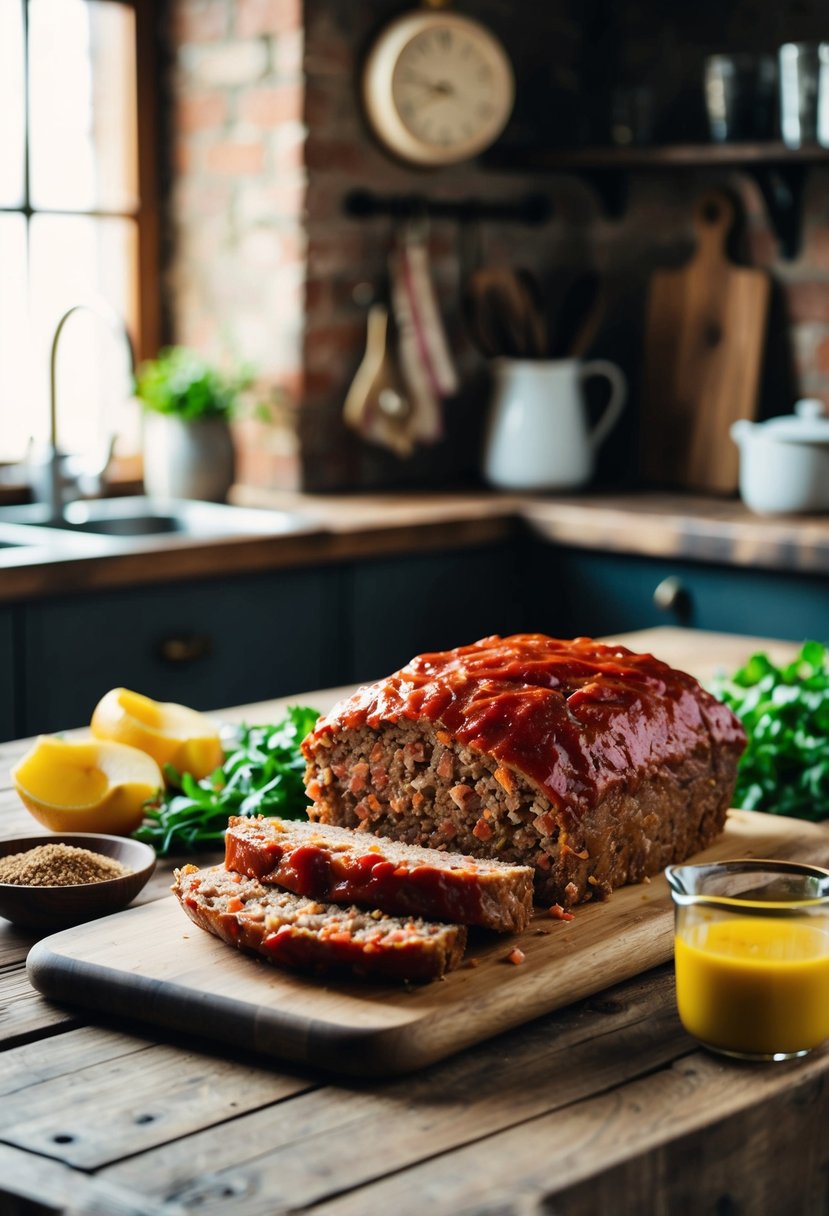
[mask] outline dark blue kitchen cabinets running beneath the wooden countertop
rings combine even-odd
[[[118,685],[220,709],[378,679],[489,634],[653,625],[829,641],[829,578],[528,535],[13,604],[0,610],[0,738],[83,725]]]

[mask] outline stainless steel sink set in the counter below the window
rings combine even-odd
[[[50,519],[49,508],[43,502],[6,507],[0,510],[0,525],[4,523],[36,528],[52,537],[68,531],[122,540],[164,536],[212,540],[318,531],[318,525],[310,517],[295,512],[184,499],[156,502],[147,497],[71,502],[58,520]]]

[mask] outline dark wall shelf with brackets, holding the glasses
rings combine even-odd
[[[745,173],[757,185],[784,258],[800,249],[801,202],[812,165],[829,165],[829,148],[788,148],[780,142],[676,143],[659,147],[496,147],[489,169],[574,174],[598,196],[605,215],[625,214],[631,171],[723,168]]]

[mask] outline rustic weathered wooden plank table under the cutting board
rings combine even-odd
[[[754,648],[678,630],[630,638],[700,675]],[[4,837],[32,831],[7,779],[21,748],[0,748]],[[171,866],[146,897],[167,894]],[[26,976],[33,941],[0,924],[9,1216],[829,1211],[829,1051],[772,1066],[700,1051],[670,964],[413,1075],[343,1081],[218,1047],[198,1026],[52,1004]]]

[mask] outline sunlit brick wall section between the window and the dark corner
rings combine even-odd
[[[275,423],[237,426],[241,480],[295,484],[305,203],[298,0],[174,0],[165,275],[170,337],[247,361]]]

